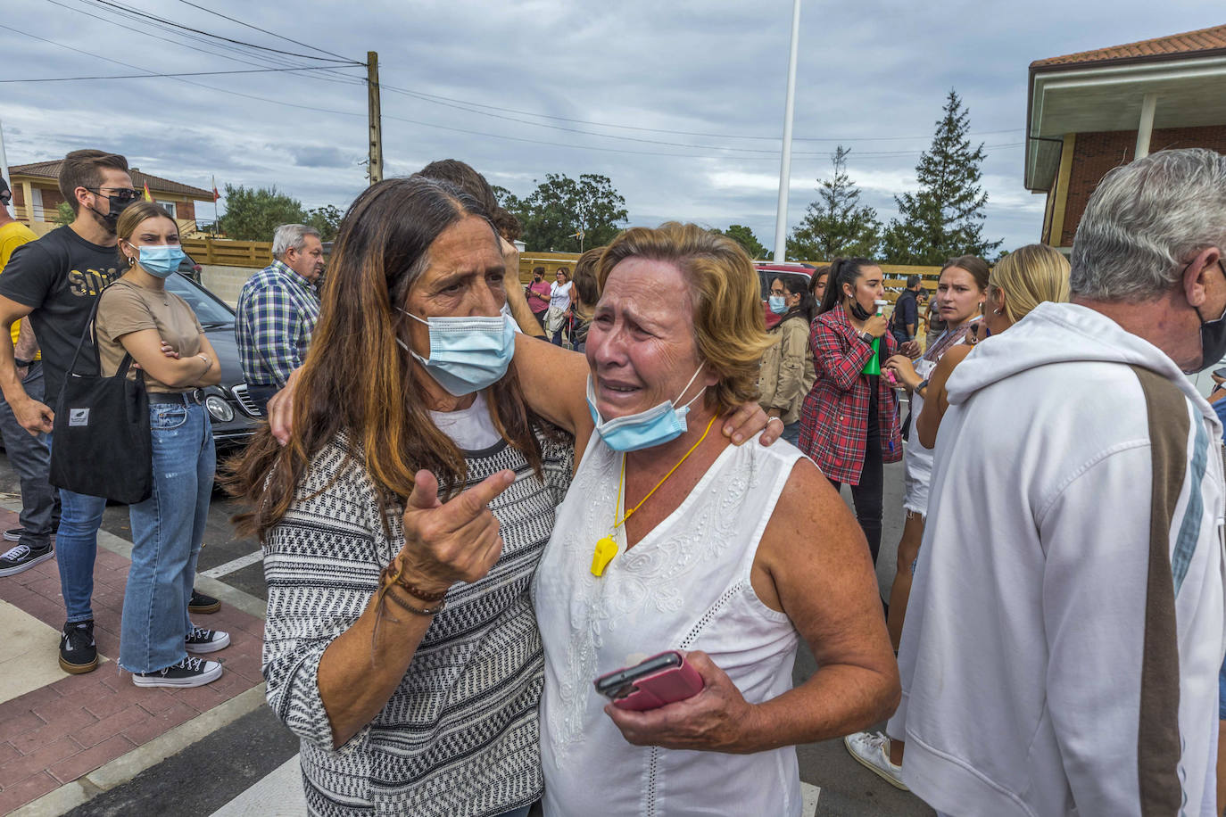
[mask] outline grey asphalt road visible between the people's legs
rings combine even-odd
[[[7,459],[0,456],[0,492],[17,495],[17,480]],[[847,491],[843,491],[848,499]],[[878,582],[883,598],[888,595],[894,577],[894,555],[902,530],[902,469],[901,464],[886,465],[884,532],[878,563]],[[230,517],[235,503],[221,491],[215,491],[205,532],[205,548],[199,571],[215,570],[250,557],[250,563],[217,576],[250,595],[266,598],[264,571],[254,555],[256,543],[235,539]],[[103,527],[131,540],[131,527],[125,506],[109,506]],[[817,670],[813,654],[801,644],[797,654],[794,681],[803,682]],[[81,806],[74,815],[143,815],[158,813],[166,805],[166,793],[186,797],[191,812],[210,815],[235,797],[265,774],[272,772],[298,752],[298,741],[277,721],[267,708],[257,709],[205,740]],[[801,779],[821,788],[818,815],[868,816],[889,815],[910,817],[933,815],[917,797],[900,791],[856,763],[841,740],[797,747]]]

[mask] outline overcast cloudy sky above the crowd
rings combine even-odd
[[[631,224],[741,223],[774,244],[791,0],[4,5],[0,80],[337,65],[162,21],[302,55],[374,50],[386,175],[452,157],[522,196],[547,173],[598,173]],[[1021,183],[1030,61],[1224,22],[1220,0],[804,0],[790,229],[839,143],[863,200],[893,216],[955,88],[987,149],[986,234],[1005,249],[1036,240],[1042,198]],[[6,82],[0,124],[10,164],[102,147],[177,181],[276,185],[343,209],[367,184],[364,76]]]

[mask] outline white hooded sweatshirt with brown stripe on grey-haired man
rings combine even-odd
[[[888,726],[904,780],[954,817],[1209,817],[1214,410],[1160,349],[1073,304],[977,345],[948,391]]]

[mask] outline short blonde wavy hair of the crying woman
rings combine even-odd
[[[758,399],[758,369],[774,341],[766,334],[758,271],[739,244],[696,224],[634,227],[604,249],[596,278],[601,290],[626,258],[677,267],[689,288],[699,358],[720,382],[706,391],[707,408],[723,414]]]

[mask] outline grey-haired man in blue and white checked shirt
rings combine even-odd
[[[272,257],[271,265],[243,284],[234,323],[248,394],[260,412],[266,412],[268,398],[306,358],[324,273],[319,232],[305,224],[282,224],[272,236]]]

